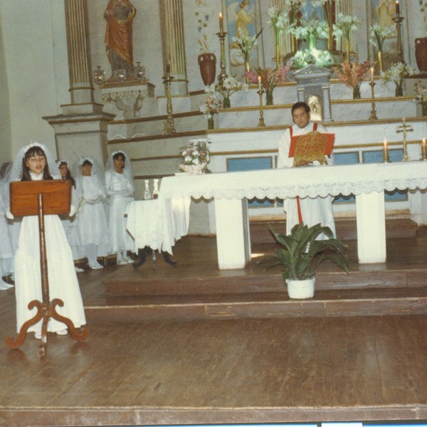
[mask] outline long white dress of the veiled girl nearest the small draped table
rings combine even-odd
[[[105,183],[109,196],[110,252],[135,251],[132,236],[126,228],[125,211],[127,204],[134,200],[134,188],[127,174],[118,174],[112,169],[105,172]]]

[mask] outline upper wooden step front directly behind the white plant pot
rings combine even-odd
[[[366,288],[415,288],[427,286],[427,270],[386,270],[376,265],[377,270],[359,269],[346,274],[342,270],[318,271],[317,290],[348,290]],[[258,268],[259,269],[259,268]],[[138,297],[151,295],[218,295],[259,292],[280,292],[285,289],[280,268],[260,270],[258,274],[244,275],[232,270],[221,275],[187,275],[165,279],[144,275],[131,265],[112,273],[105,280],[107,297]]]

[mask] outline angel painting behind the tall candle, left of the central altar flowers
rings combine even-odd
[[[223,2],[224,4],[224,2]],[[256,36],[260,28],[257,26],[258,0],[226,0],[226,22],[228,23],[228,51],[230,55],[231,74],[242,80],[245,73],[245,59],[233,37]],[[226,30],[227,31],[227,30]],[[262,48],[261,36],[258,38],[258,46],[253,49],[249,59],[249,68],[258,68],[258,57]]]

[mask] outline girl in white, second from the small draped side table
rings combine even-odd
[[[91,157],[80,157],[78,160],[75,184],[79,198],[76,212],[76,228],[78,242],[84,256],[88,258],[88,265],[93,270],[102,268],[97,257],[108,255],[109,231],[107,216],[103,202],[106,198],[104,172]]]

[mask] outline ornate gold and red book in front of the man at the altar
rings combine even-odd
[[[293,166],[304,166],[317,160],[327,164],[325,156],[332,154],[335,134],[320,133],[317,130],[305,135],[290,137],[289,157],[294,158]]]

